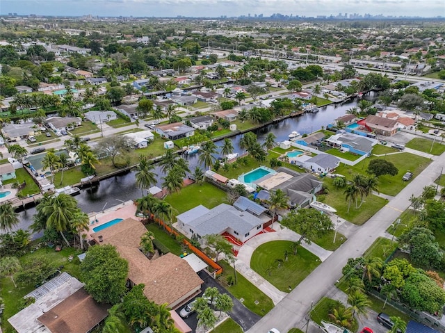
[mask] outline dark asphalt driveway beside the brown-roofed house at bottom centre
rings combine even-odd
[[[234,307],[231,312],[229,312],[230,318],[236,321],[238,325],[240,325],[243,328],[243,331],[247,331],[252,327],[255,323],[257,323],[258,320],[261,319],[261,316],[258,316],[257,314],[254,314],[252,311],[250,311],[247,307],[243,305],[239,300],[234,298],[234,296],[229,293],[226,289],[223,288],[218,282],[216,282],[213,277],[209,276],[204,271],[198,273],[200,275],[201,279],[204,281],[204,284],[202,284],[202,293],[208,288],[208,287],[216,287],[220,291],[220,293],[227,293],[227,295],[232,298],[232,301],[234,302]],[[197,297],[202,296],[202,293],[198,295]],[[183,307],[180,307],[177,309],[177,314],[179,314],[179,311],[181,311]],[[184,321],[187,323],[188,326],[191,327],[193,332],[196,330],[197,326],[197,316],[196,313],[191,314],[188,318],[184,318]]]

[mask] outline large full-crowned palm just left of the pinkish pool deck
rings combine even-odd
[[[63,232],[71,230],[71,221],[74,214],[79,211],[77,202],[71,195],[60,193],[57,197],[51,197],[44,203],[42,213],[48,217],[47,227],[54,227],[62,236],[65,243],[70,246],[70,243],[65,238]]]

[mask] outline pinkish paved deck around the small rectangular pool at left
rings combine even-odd
[[[108,208],[105,211],[100,211],[99,213],[89,213],[88,217],[90,218],[90,229],[88,232],[86,232],[86,238],[88,241],[92,240],[93,238],[91,235],[95,233],[93,228],[99,227],[99,225],[104,225],[106,222],[114,220],[115,218],[122,218],[123,220],[127,218],[133,218],[133,220],[138,221],[142,220],[142,218],[136,216],[136,209],[136,204],[133,204],[133,202],[129,200],[127,202],[122,202],[122,204]]]

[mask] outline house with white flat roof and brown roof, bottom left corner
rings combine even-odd
[[[66,272],[24,296],[35,302],[8,319],[17,333],[88,333],[108,316],[83,284]]]

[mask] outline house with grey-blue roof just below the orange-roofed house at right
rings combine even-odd
[[[357,155],[371,154],[377,140],[353,133],[337,133],[325,140],[327,145]]]

